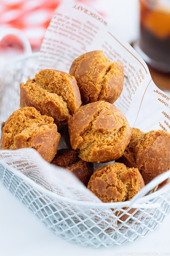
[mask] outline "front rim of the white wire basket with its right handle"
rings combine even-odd
[[[27,177],[25,174],[21,173],[20,171],[16,170],[15,168],[11,166],[7,166],[7,164],[0,161],[0,165],[4,166],[7,170],[12,172],[17,177],[21,178],[23,181],[27,182],[29,185],[31,185],[33,188],[37,189],[42,195],[46,195],[49,197],[52,197],[55,200],[64,201],[66,203],[71,203],[77,206],[87,206],[90,208],[122,208],[122,207],[131,207],[131,208],[157,208],[159,207],[158,204],[150,204],[147,203],[149,200],[154,199],[163,193],[166,193],[168,190],[170,190],[170,181],[164,185],[159,190],[145,195],[145,193],[149,192],[152,187],[155,187],[157,184],[161,183],[162,181],[170,178],[170,170],[167,170],[163,174],[160,174],[159,176],[155,177],[150,183],[145,185],[143,189],[141,189],[132,199],[131,201],[124,201],[124,202],[110,202],[110,203],[97,203],[92,201],[79,201],[76,199],[71,199],[69,197],[64,197],[61,195],[56,194],[55,192],[47,190],[45,187],[39,185],[29,177]],[[1,172],[1,166],[0,166],[0,172]],[[144,203],[145,202],[145,203]]]

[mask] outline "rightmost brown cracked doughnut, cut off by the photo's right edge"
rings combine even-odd
[[[143,133],[131,129],[131,140],[124,154],[116,160],[138,168],[145,184],[170,168],[170,134],[163,130]]]

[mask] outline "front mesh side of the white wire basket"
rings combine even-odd
[[[168,177],[169,171],[153,180],[152,187]],[[144,197],[139,193],[140,198],[132,200],[131,206],[125,208],[121,203],[85,203],[60,197],[1,163],[0,178],[47,228],[84,246],[111,247],[135,241],[153,231],[170,210],[169,183]],[[150,188],[151,184],[146,185],[142,192]]]

